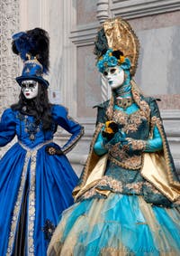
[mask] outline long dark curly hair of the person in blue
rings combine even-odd
[[[53,120],[51,116],[52,104],[49,103],[48,90],[40,84],[38,85],[38,95],[36,98],[27,100],[21,90],[19,101],[11,106],[13,110],[19,110],[23,115],[33,116],[36,125],[42,123],[44,131],[52,128]]]

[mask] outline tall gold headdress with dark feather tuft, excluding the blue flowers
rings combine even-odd
[[[97,35],[94,53],[99,58],[108,49],[121,51],[124,57],[130,59],[130,74],[133,76],[138,64],[139,39],[130,24],[121,17],[106,20]]]

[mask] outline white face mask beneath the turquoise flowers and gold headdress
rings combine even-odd
[[[103,72],[104,78],[112,89],[116,89],[124,82],[124,71],[120,66],[109,67]]]

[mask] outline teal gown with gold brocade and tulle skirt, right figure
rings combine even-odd
[[[49,244],[49,256],[180,255],[179,196],[172,189],[177,199],[172,203],[166,197],[170,183],[162,190],[144,178],[142,148],[143,154],[164,153],[171,184],[174,180],[177,188],[180,183],[155,100],[142,96],[138,100],[126,110],[113,106],[112,117],[107,116],[109,102],[98,106],[90,153],[74,190],[76,204],[62,213]],[[123,124],[123,131],[134,142],[132,147],[121,147],[122,133],[116,133],[111,147],[103,146],[102,128],[108,119]],[[107,163],[98,175],[103,165],[94,172],[94,163],[107,152]],[[150,174],[152,170],[145,167]]]

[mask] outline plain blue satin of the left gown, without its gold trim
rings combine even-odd
[[[0,146],[3,147],[10,142],[16,135],[24,147],[28,147],[30,152],[35,147],[40,147],[35,155],[36,169],[35,169],[35,185],[32,187],[35,191],[35,215],[33,219],[33,253],[28,254],[28,246],[26,248],[27,255],[44,256],[46,255],[48,241],[44,238],[42,228],[47,219],[54,225],[58,224],[59,214],[68,206],[73,204],[72,190],[76,186],[77,176],[70,166],[67,156],[50,156],[45,151],[43,143],[51,140],[53,134],[59,125],[65,128],[72,136],[67,141],[65,148],[75,141],[82,132],[82,127],[72,119],[68,119],[67,110],[55,105],[52,109],[52,117],[54,120],[54,128],[44,133],[40,127],[40,131],[35,135],[35,140],[31,141],[28,133],[25,131],[25,124],[23,120],[18,118],[18,112],[12,109],[6,109],[0,123]],[[32,117],[28,119],[33,122]],[[41,146],[40,146],[41,145]],[[56,146],[53,142],[49,145]],[[63,149],[63,147],[62,147]],[[31,161],[27,164],[27,172],[22,188],[20,187],[25,157],[27,150],[19,143],[15,143],[0,161],[0,255],[11,255],[7,251],[9,238],[15,233],[10,233],[12,216],[14,213],[14,206],[22,204],[17,202],[18,193],[24,189],[25,181],[28,179],[29,187],[31,187]],[[28,197],[28,202],[31,198]],[[21,209],[21,207],[20,207]],[[29,216],[32,217],[30,209],[27,206],[26,217],[27,224],[29,223]],[[14,220],[18,223],[18,218]],[[24,238],[27,242],[28,234]],[[13,242],[14,243],[14,242]]]

